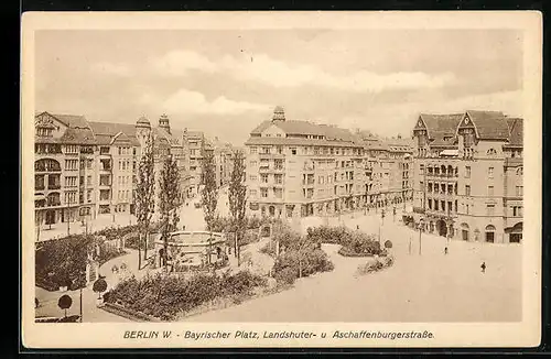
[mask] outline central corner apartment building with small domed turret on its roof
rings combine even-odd
[[[287,120],[277,107],[245,145],[251,216],[329,215],[366,202],[364,143],[348,130]]]

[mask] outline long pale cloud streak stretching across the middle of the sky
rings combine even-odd
[[[225,55],[217,62],[191,51],[173,51],[151,61],[152,68],[166,76],[190,72],[224,73],[238,80],[260,81],[274,87],[322,86],[348,91],[440,88],[453,84],[453,73],[430,75],[421,72],[377,74],[358,70],[346,75],[324,72],[314,65],[290,64],[266,54],[255,56]]]

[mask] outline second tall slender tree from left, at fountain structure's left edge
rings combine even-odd
[[[161,238],[164,243],[163,263],[166,265],[169,236],[176,229],[180,220],[177,205],[180,200],[180,172],[176,159],[166,156],[159,178],[159,209],[161,211]]]

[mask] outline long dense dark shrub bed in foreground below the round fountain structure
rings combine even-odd
[[[264,285],[264,278],[249,272],[198,273],[190,279],[156,274],[119,283],[108,292],[106,302],[161,320],[173,320],[213,301],[249,297],[256,287]]]

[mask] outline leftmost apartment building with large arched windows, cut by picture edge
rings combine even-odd
[[[82,116],[35,116],[34,207],[37,226],[95,215],[97,146]]]

